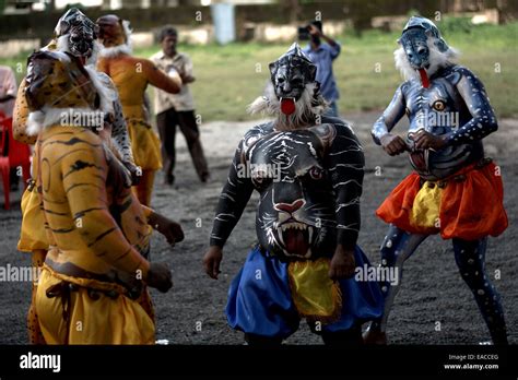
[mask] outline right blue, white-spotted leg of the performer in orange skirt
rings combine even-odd
[[[474,295],[494,344],[507,344],[501,297],[485,271],[487,238],[474,241],[454,239],[455,261],[460,275]]]

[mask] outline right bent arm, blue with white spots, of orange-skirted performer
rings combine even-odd
[[[472,119],[452,132],[447,144],[458,145],[482,140],[498,129],[495,114],[482,82],[468,69],[462,68],[457,90],[464,100]]]

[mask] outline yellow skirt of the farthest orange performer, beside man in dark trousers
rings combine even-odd
[[[140,119],[126,119],[126,122],[136,165],[142,170],[162,168],[161,142],[153,129]]]

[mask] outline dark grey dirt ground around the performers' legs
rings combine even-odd
[[[410,171],[407,157],[391,158],[372,142],[369,129],[377,116],[378,112],[348,115],[364,145],[367,162],[358,244],[374,264],[379,263],[378,248],[387,228],[374,216],[374,211]],[[167,340],[170,344],[243,344],[243,334],[227,326],[224,307],[228,285],[255,240],[257,198],[250,201],[224,249],[219,281],[203,273],[201,258],[208,248],[214,209],[233,151],[252,124],[211,122],[202,127],[202,142],[212,174],[209,183],[198,181],[183,138],[177,139],[175,187],[162,186],[162,176],[156,180],[153,207],[179,221],[186,233],[185,241],[173,250],[163,237],[153,238],[152,260],[168,262],[175,282],[174,289],[168,294],[153,292],[158,340]],[[517,344],[518,287],[515,276],[518,257],[514,241],[518,237],[518,120],[499,120],[499,126],[496,133],[485,139],[485,147],[487,155],[496,158],[502,166],[510,225],[498,238],[490,238],[486,262],[491,277],[494,277],[495,271],[501,271],[501,280],[494,283],[503,299],[509,340]],[[403,124],[397,131],[403,132]],[[375,175],[377,166],[381,168],[381,176]],[[3,198],[3,194],[0,195]],[[8,263],[30,264],[28,256],[16,251],[20,223],[19,206],[8,212],[0,211],[0,266]],[[25,313],[30,289],[30,283],[0,283],[0,344],[27,342]],[[440,331],[436,331],[436,322],[440,322]],[[388,334],[393,344],[478,344],[488,341],[488,332],[474,299],[458,273],[449,241],[443,241],[437,236],[429,237],[407,262]],[[319,344],[320,340],[309,332],[305,323],[301,323],[301,330],[286,343]]]

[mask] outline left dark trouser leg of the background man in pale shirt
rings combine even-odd
[[[175,135],[176,116],[174,109],[168,109],[156,115],[156,127],[162,142],[162,161],[164,166],[164,183],[173,185],[173,168],[175,165]]]

